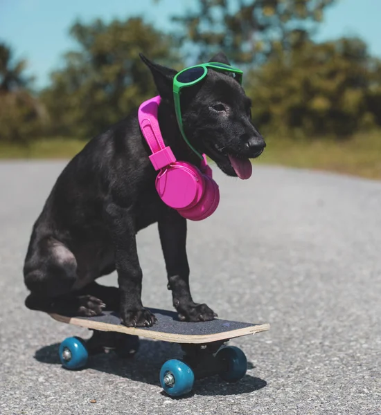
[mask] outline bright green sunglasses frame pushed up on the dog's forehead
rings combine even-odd
[[[196,80],[193,80],[193,81],[190,81],[190,82],[181,82],[181,81],[178,80],[178,77],[182,73],[184,73],[186,71],[189,71],[190,69],[193,69],[193,68],[203,68],[204,73],[202,73],[202,75],[200,75],[200,77],[197,77]],[[207,64],[199,64],[199,65],[195,65],[195,66],[189,66],[188,68],[185,68],[182,71],[180,71],[179,73],[177,73],[175,75],[175,77],[173,78],[173,100],[175,102],[175,112],[176,112],[177,124],[179,124],[179,129],[180,129],[180,132],[181,132],[181,136],[183,136],[186,144],[190,147],[190,149],[195,154],[197,154],[197,156],[201,160],[202,160],[202,155],[190,144],[190,142],[188,141],[188,139],[186,138],[186,135],[184,133],[183,122],[182,122],[182,119],[181,119],[180,91],[183,88],[187,88],[188,86],[193,86],[194,84],[197,84],[198,82],[203,80],[204,77],[206,77],[206,75],[208,74],[208,68],[214,69],[215,71],[218,71],[218,72],[231,72],[231,73],[234,73],[236,75],[235,79],[241,85],[242,85],[242,75],[243,75],[243,72],[240,69],[234,68],[231,65],[220,64],[220,62],[208,62]]]

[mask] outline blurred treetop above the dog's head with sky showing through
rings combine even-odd
[[[198,0],[197,8],[174,17],[184,27],[183,42],[204,61],[224,50],[231,62],[262,64],[281,44],[303,42],[335,0]],[[194,50],[194,49],[193,49]]]

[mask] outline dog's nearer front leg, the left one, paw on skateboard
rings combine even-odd
[[[121,299],[121,320],[129,327],[152,326],[155,317],[141,303],[143,273],[136,248],[136,230],[130,210],[109,203],[107,221],[114,244],[115,266]]]

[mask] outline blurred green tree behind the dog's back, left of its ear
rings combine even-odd
[[[150,98],[154,84],[139,53],[179,64],[174,38],[140,18],[77,22],[70,34],[78,48],[64,56],[64,67],[51,75],[51,86],[42,93],[54,134],[89,138]]]

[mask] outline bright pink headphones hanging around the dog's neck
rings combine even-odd
[[[181,216],[201,221],[218,207],[218,185],[212,178],[205,154],[198,169],[186,161],[177,161],[170,147],[165,146],[157,120],[159,103],[158,95],[143,102],[138,111],[141,131],[152,151],[151,163],[155,170],[160,170],[155,182],[156,190],[161,200]]]

